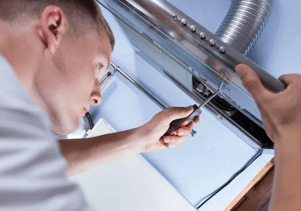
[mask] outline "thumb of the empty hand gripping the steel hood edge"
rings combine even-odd
[[[266,91],[261,84],[257,74],[247,65],[239,64],[235,67],[244,88],[252,95],[256,102],[260,101],[262,94]]]

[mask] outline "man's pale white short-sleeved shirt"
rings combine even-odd
[[[94,211],[65,167],[46,114],[0,56],[0,211]]]

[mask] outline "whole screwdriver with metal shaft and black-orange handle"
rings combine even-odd
[[[193,111],[192,113],[184,118],[175,119],[172,122],[170,122],[168,130],[164,133],[163,136],[176,136],[178,134],[178,129],[181,127],[185,127],[187,124],[189,124],[195,117],[200,115],[202,113],[201,107],[205,106],[211,99],[213,99],[221,90],[223,86],[223,83],[220,85],[218,91],[214,93],[210,98],[208,98],[203,104],[200,106],[193,105]]]

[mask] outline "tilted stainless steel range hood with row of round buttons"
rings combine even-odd
[[[136,52],[187,95],[202,103],[224,83],[219,96],[207,107],[256,151],[273,153],[273,142],[263,130],[260,112],[234,67],[247,64],[272,92],[280,92],[285,86],[243,55],[249,51],[249,45],[246,50],[240,50],[239,43],[235,45],[229,37],[231,31],[221,32],[225,25],[233,23],[225,18],[215,35],[164,0],[105,2]],[[233,8],[239,9],[235,2]],[[231,13],[229,10],[228,14]],[[253,34],[258,36],[258,31]],[[251,45],[255,43],[252,39],[249,41]]]

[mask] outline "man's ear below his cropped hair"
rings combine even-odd
[[[66,32],[66,19],[62,9],[58,6],[46,7],[41,14],[37,32],[49,52],[54,53]]]

